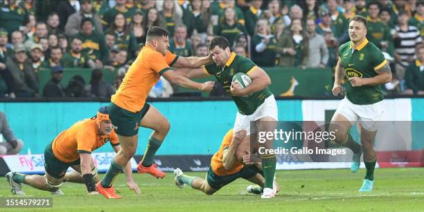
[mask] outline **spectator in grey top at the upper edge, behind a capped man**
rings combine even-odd
[[[91,0],[82,0],[81,10],[71,15],[67,21],[67,24],[64,28],[65,35],[77,35],[81,30],[81,21],[84,18],[91,18],[94,22],[94,30],[100,34],[103,34],[101,19],[98,14],[94,12]]]

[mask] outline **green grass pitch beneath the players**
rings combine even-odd
[[[204,177],[205,173],[186,173]],[[261,200],[247,195],[250,183],[239,179],[214,195],[204,195],[189,186],[178,189],[173,173],[164,180],[134,174],[141,188],[135,195],[125,186],[125,175],[116,178],[121,200],[107,200],[103,195],[89,196],[84,184],[64,183],[63,196],[53,196],[53,209],[27,211],[423,211],[424,168],[376,169],[376,184],[371,193],[358,193],[364,169],[278,171],[281,191],[274,199]],[[28,197],[52,197],[46,191],[23,185]],[[6,177],[0,181],[0,197],[10,195]],[[0,211],[23,211],[5,209]]]

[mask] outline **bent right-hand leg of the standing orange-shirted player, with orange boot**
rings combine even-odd
[[[164,178],[166,174],[156,168],[156,164],[153,163],[153,157],[164,142],[166,135],[168,135],[170,123],[159,110],[150,106],[148,112],[143,119],[141,119],[141,126],[151,128],[153,133],[149,137],[148,146],[143,155],[143,159],[137,166],[137,171],[139,173],[150,173],[150,175],[157,178]]]

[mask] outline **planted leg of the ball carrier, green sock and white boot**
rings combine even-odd
[[[256,121],[258,132],[274,132],[277,126],[277,122],[272,117],[263,117]],[[274,148],[274,139],[267,139],[265,142],[259,144],[260,147],[265,149]],[[257,140],[257,139],[256,139]],[[263,176],[265,178],[264,191],[262,198],[272,198],[276,194],[276,188],[274,188],[274,176],[276,171],[276,156],[274,154],[260,154],[262,162]]]

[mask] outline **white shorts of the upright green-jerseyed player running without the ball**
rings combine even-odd
[[[352,125],[360,122],[366,131],[377,131],[377,122],[380,121],[383,113],[383,102],[374,104],[353,104],[344,97],[335,113],[343,115]]]

